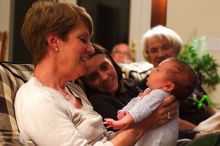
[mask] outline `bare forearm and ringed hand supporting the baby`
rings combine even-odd
[[[134,145],[145,131],[159,127],[177,116],[178,103],[174,96],[169,96],[163,100],[160,106],[147,118],[139,123],[132,124],[120,130],[111,140],[114,146]],[[171,119],[167,119],[167,112],[170,112]]]

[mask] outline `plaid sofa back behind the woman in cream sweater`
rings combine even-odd
[[[32,64],[0,63],[0,145],[19,145],[14,98],[18,88],[32,72]]]

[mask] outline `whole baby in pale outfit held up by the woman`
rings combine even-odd
[[[146,84],[148,89],[118,111],[118,121],[104,119],[107,128],[121,129],[143,120],[170,94],[174,95],[181,104],[192,94],[197,85],[197,78],[189,65],[176,58],[168,58],[151,70]],[[169,112],[167,118],[171,118]],[[147,131],[136,146],[175,146],[178,131],[177,117],[159,128]]]

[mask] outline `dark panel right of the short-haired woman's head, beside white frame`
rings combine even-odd
[[[92,41],[109,51],[116,43],[128,43],[130,0],[78,1],[94,20]]]

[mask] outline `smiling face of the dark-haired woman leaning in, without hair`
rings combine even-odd
[[[115,93],[118,89],[118,76],[109,58],[98,54],[86,61],[86,74],[83,80],[93,89]]]

